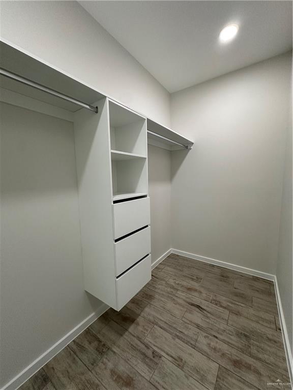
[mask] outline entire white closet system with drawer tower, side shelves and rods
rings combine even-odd
[[[147,144],[193,143],[6,42],[0,68],[2,101],[25,95],[74,122],[84,288],[120,310],[151,279]]]

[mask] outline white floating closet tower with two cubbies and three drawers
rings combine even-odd
[[[147,119],[96,105],[74,120],[84,284],[120,310],[151,280]]]

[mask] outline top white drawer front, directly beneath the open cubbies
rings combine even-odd
[[[150,198],[116,203],[112,207],[114,239],[150,224]]]

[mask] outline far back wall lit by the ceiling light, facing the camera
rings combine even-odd
[[[171,95],[172,247],[275,274],[290,55]]]

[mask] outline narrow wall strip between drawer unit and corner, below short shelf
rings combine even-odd
[[[148,145],[152,263],[171,248],[171,152]]]

